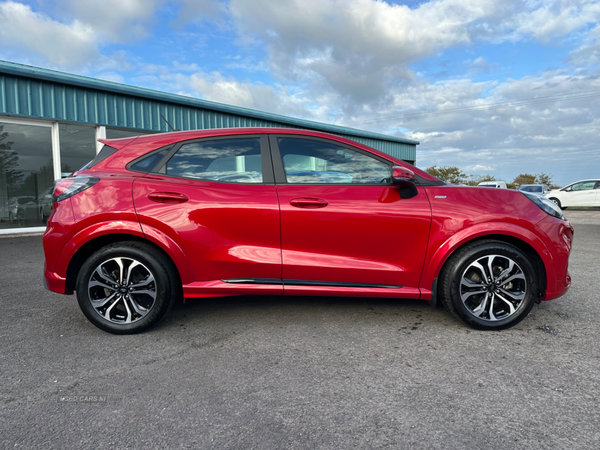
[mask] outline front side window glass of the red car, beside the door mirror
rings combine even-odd
[[[379,184],[390,182],[390,165],[333,142],[277,139],[288,183]]]

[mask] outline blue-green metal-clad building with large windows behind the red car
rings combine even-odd
[[[324,131],[414,164],[417,141],[0,61],[0,234],[44,230],[55,180],[102,138],[179,130]]]

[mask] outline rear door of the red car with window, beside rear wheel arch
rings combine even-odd
[[[135,181],[133,196],[144,231],[160,230],[181,247],[199,290],[225,283],[282,291],[279,204],[266,136],[180,143]]]

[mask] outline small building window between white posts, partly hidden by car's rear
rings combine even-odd
[[[85,166],[96,156],[96,128],[93,126],[61,123],[60,172],[65,177]]]

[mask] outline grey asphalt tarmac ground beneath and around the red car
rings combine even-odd
[[[0,238],[0,448],[600,447],[600,211],[573,285],[516,327],[406,300],[237,297],[116,336],[42,286],[41,236]]]

